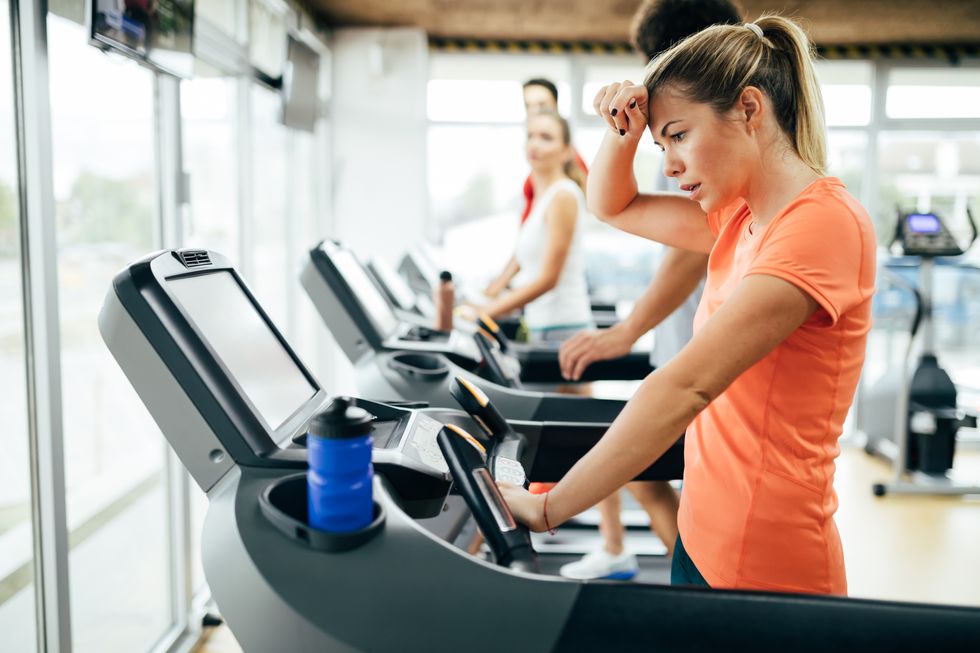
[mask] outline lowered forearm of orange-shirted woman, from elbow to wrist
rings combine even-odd
[[[633,480],[707,404],[702,392],[685,387],[668,367],[650,374],[598,444],[551,490],[549,522],[560,524]]]

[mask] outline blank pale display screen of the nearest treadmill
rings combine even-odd
[[[167,280],[170,290],[231,376],[273,429],[314,387],[230,272]]]

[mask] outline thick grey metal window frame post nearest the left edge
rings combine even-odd
[[[38,649],[71,653],[46,0],[12,0]]]

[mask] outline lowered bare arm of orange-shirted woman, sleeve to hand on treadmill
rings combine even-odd
[[[562,523],[595,505],[659,458],[691,421],[745,370],[789,337],[817,309],[782,279],[743,279],[691,342],[650,374],[602,439],[550,492],[548,521]],[[545,528],[542,495],[501,484],[515,517]]]

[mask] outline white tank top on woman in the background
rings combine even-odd
[[[524,307],[524,321],[531,330],[586,327],[592,324],[592,307],[585,283],[585,257],[582,252],[582,231],[585,229],[587,210],[585,195],[571,179],[561,179],[548,186],[534,206],[517,236],[515,258],[521,266],[514,278],[515,286],[524,286],[541,275],[548,241],[548,226],[544,216],[551,200],[559,190],[575,196],[578,214],[575,234],[565,259],[565,266],[558,277],[558,284]]]

